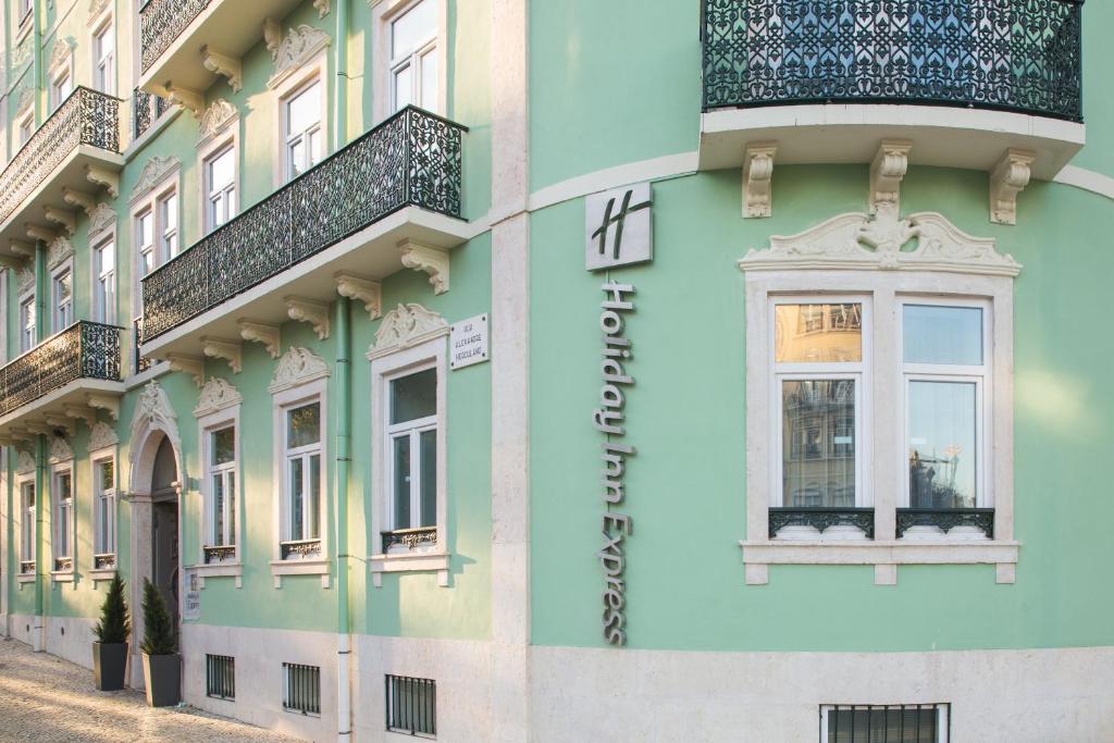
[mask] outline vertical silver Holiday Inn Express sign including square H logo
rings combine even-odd
[[[585,267],[605,271],[646,263],[654,258],[654,233],[649,184],[594,194],[585,203]],[[624,443],[626,437],[626,390],[634,384],[627,365],[633,359],[631,339],[625,326],[634,312],[634,284],[617,282],[609,276],[602,286],[599,331],[603,350],[599,361],[599,407],[592,411],[592,424],[604,434],[602,547],[596,554],[604,571],[603,634],[612,645],[626,644],[626,539],[634,522],[625,514],[626,458],[635,453]]]

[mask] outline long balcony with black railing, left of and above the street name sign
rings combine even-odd
[[[238,356],[241,340],[276,353],[291,319],[328,336],[338,292],[378,316],[379,281],[403,267],[448,291],[449,251],[470,235],[460,218],[465,131],[405,108],[152,272],[141,355],[196,362],[204,352],[238,371],[229,353]]]

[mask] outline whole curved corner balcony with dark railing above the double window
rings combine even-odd
[[[1054,177],[1085,141],[1082,0],[705,0],[700,167],[870,163]]]

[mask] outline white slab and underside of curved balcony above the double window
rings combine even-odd
[[[743,165],[749,146],[775,143],[779,165],[870,163],[883,139],[912,143],[911,165],[993,170],[1008,149],[1036,154],[1051,180],[1083,148],[1083,124],[949,106],[885,104],[731,108],[701,116],[700,168]]]

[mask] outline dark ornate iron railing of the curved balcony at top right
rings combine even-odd
[[[964,106],[1083,120],[1083,0],[703,0],[704,110]]]

